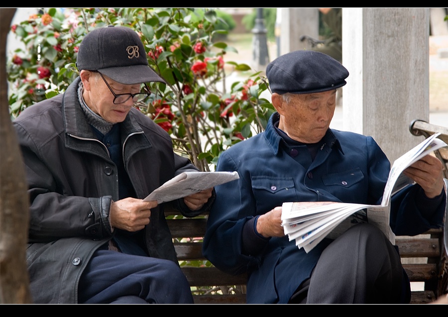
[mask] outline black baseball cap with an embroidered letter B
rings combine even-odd
[[[110,25],[88,33],[79,46],[76,67],[98,71],[123,84],[165,82],[149,67],[138,34],[125,26]]]

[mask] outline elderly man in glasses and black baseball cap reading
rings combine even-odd
[[[148,65],[138,34],[102,27],[79,48],[80,76],[63,94],[14,121],[29,184],[27,264],[35,303],[193,303],[164,206],[142,201],[178,173],[169,135],[133,104]],[[213,188],[175,201],[185,216],[207,211]]]

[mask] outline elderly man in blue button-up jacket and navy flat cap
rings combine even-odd
[[[358,224],[309,253],[289,241],[282,204],[380,204],[390,162],[373,138],[330,129],[336,89],[348,71],[328,55],[296,51],[266,69],[277,110],[266,130],[226,150],[217,170],[239,179],[216,186],[203,253],[219,269],[247,274],[247,303],[408,303],[397,249],[376,227]],[[443,224],[439,159],[406,170],[415,184],[393,196],[391,229],[416,235]]]

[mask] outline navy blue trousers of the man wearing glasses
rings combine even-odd
[[[193,304],[193,297],[173,261],[97,250],[81,275],[78,303]]]

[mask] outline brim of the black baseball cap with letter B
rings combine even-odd
[[[149,81],[165,82],[165,80],[158,76],[148,65],[110,67],[98,70],[98,72],[126,85]]]

